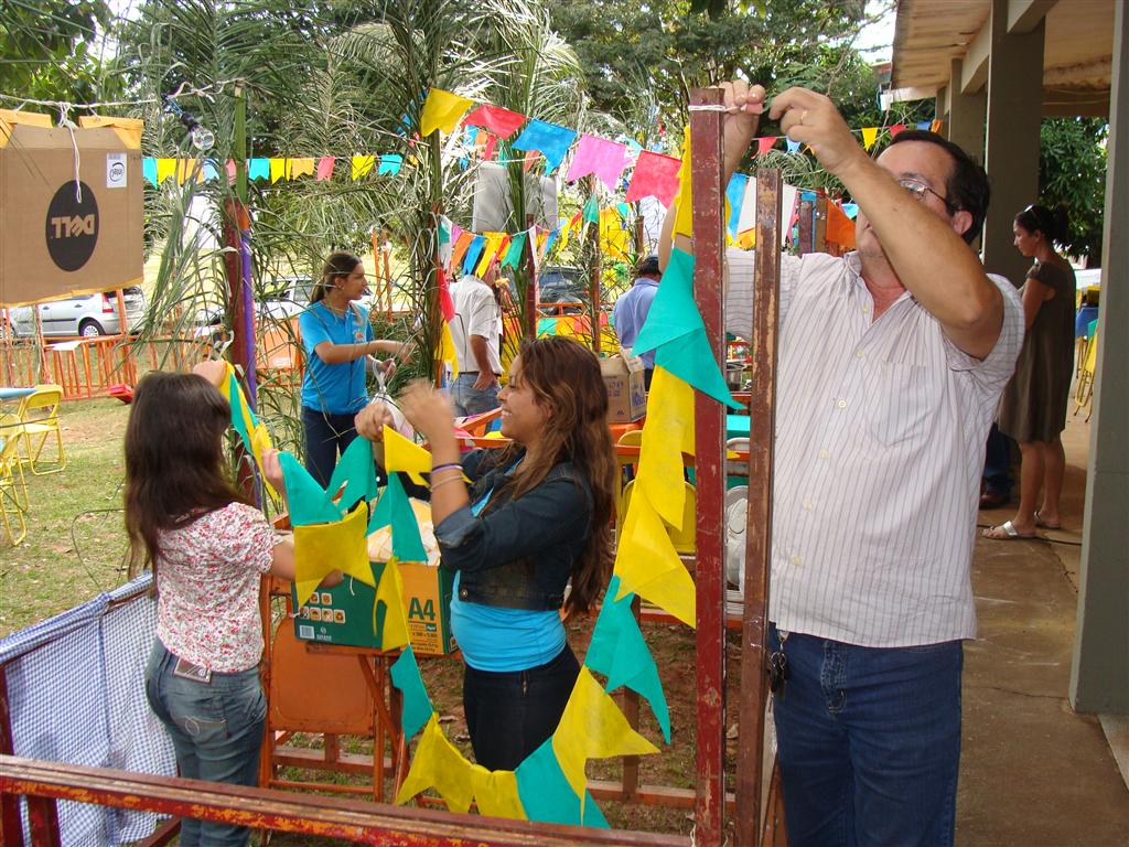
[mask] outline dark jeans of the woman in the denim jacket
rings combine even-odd
[[[525,671],[463,673],[463,711],[474,761],[488,770],[514,770],[557,731],[580,673],[567,644],[557,658]]]

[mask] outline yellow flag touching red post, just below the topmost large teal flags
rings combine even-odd
[[[636,490],[671,526],[682,529],[685,506],[682,453],[694,452],[694,390],[664,367],[655,368],[647,395]]]

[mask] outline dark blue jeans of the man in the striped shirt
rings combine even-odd
[[[791,632],[784,650],[789,678],[772,706],[790,847],[952,845],[963,645]]]

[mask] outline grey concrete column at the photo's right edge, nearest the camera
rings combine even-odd
[[[1114,3],[1109,168],[1086,515],[1070,670],[1077,711],[1129,714],[1129,8]]]

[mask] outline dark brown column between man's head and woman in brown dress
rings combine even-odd
[[[1039,125],[1043,108],[1043,30],[1009,35],[1007,0],[992,0],[988,58],[988,154],[991,206],[984,224],[984,268],[1015,285],[1031,260],[1013,245],[1012,221],[1039,193]]]

